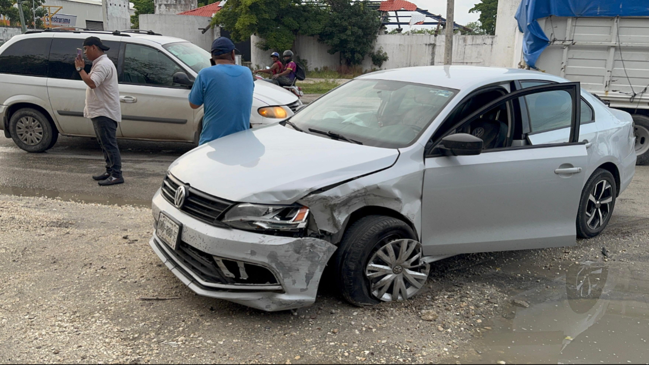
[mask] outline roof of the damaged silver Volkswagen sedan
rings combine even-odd
[[[405,81],[459,90],[508,80],[567,81],[538,71],[469,65],[405,67],[376,71],[358,78]]]

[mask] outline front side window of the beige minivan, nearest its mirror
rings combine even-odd
[[[180,66],[157,49],[126,44],[124,78],[128,84],[180,86],[173,83],[173,74],[184,72]]]

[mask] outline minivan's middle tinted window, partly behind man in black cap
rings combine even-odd
[[[117,54],[119,54],[118,41],[102,41],[104,45],[110,47],[106,51],[106,56],[112,60],[117,67]],[[49,53],[49,72],[48,77],[64,78],[66,80],[81,80],[77,69],[75,68],[75,57],[77,57],[77,48],[83,49],[83,40],[78,38],[55,38],[52,41],[52,48]],[[90,73],[92,62],[86,58],[86,72]]]

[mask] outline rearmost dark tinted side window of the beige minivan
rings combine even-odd
[[[0,54],[0,73],[46,77],[51,44],[52,38],[17,41]]]

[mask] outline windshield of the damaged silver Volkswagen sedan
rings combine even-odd
[[[419,137],[454,95],[453,89],[410,82],[352,80],[290,121],[305,132],[326,138],[402,148]]]

